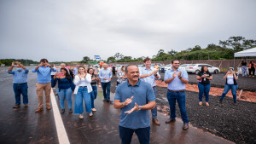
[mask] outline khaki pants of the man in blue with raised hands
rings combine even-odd
[[[45,103],[46,106],[50,106],[50,89],[51,89],[51,83],[47,84],[41,84],[37,83],[36,84],[36,90],[37,90],[37,95],[38,95],[38,107],[44,107],[44,99],[43,96],[45,95]]]

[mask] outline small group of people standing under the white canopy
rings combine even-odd
[[[249,77],[255,77],[255,63],[253,60],[250,60],[248,63],[248,71],[249,71]],[[247,77],[247,62],[246,60],[241,61],[241,76]]]

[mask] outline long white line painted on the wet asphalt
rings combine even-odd
[[[57,105],[57,102],[55,100],[55,94],[53,92],[53,89],[50,90],[50,99],[51,99],[51,105],[54,112],[54,118],[55,118],[55,126],[57,130],[57,135],[59,139],[60,144],[69,144],[69,140],[67,137],[67,132],[65,130],[61,113],[59,111],[59,107]]]

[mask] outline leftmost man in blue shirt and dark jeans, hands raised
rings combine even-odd
[[[15,63],[17,65],[15,65]],[[16,68],[16,71],[13,71],[14,67]],[[20,64],[18,61],[13,61],[12,66],[10,66],[8,73],[13,75],[13,88],[15,91],[15,107],[13,108],[18,108],[20,107],[20,94],[23,95],[23,104],[24,107],[28,107],[28,96],[27,96],[27,73],[29,70]]]

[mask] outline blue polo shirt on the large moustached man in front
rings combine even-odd
[[[155,101],[154,90],[147,82],[139,80],[136,85],[132,86],[127,80],[117,87],[114,100],[125,102],[131,96],[133,96],[131,104],[121,108],[119,125],[134,130],[149,127],[150,118],[148,110],[135,111],[130,114],[125,112],[130,111],[135,106],[135,102],[138,106],[143,106],[148,104],[148,101]]]

